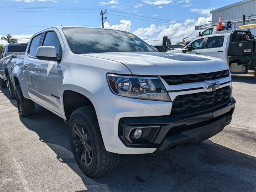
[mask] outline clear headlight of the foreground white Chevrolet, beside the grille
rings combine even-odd
[[[161,80],[157,77],[133,77],[108,74],[108,84],[114,94],[138,99],[170,101]]]

